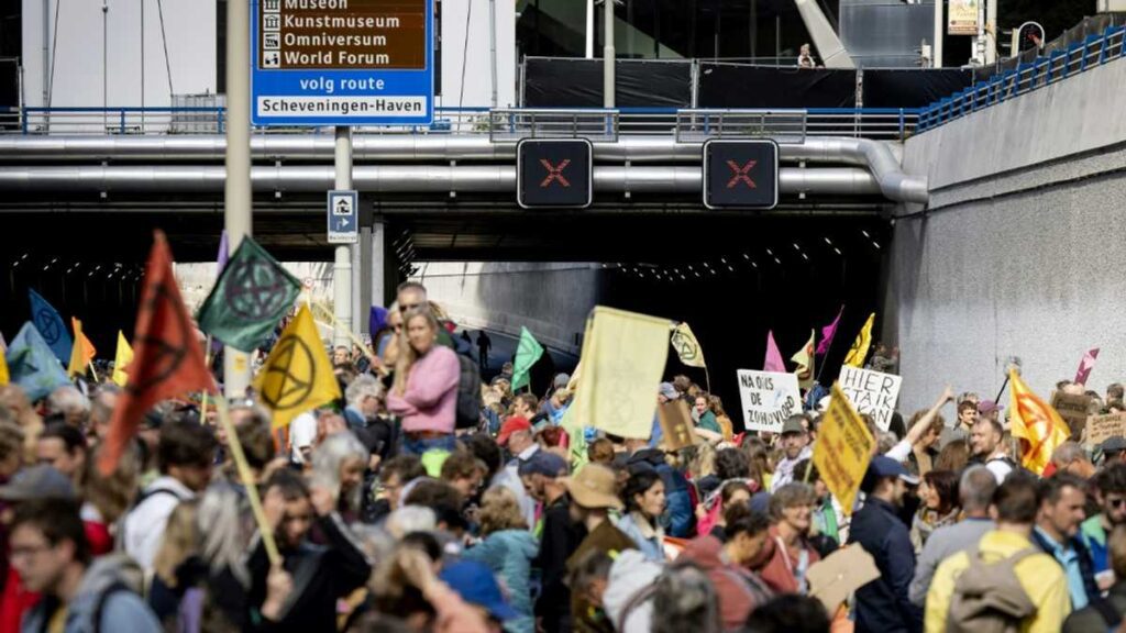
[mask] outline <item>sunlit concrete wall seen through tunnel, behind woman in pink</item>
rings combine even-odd
[[[590,264],[432,262],[413,280],[470,329],[520,336],[579,354],[587,315],[600,297],[601,268]]]

